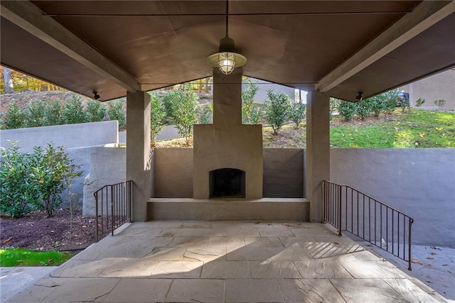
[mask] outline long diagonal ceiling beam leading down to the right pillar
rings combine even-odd
[[[392,50],[455,12],[455,1],[423,1],[334,70],[319,79],[316,90],[328,92]]]

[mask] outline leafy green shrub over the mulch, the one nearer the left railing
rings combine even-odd
[[[45,148],[36,146],[31,158],[31,182],[37,190],[33,203],[38,209],[53,216],[54,210],[62,203],[60,194],[67,188],[68,180],[80,177],[79,165],[73,164],[63,146],[54,147],[48,143]]]

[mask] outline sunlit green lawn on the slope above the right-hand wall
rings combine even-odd
[[[455,114],[412,109],[395,121],[331,127],[333,148],[455,148]]]

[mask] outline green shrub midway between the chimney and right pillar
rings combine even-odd
[[[267,97],[268,99],[265,100],[265,119],[272,126],[273,133],[276,135],[288,119],[291,101],[287,94],[282,92],[275,94],[272,89],[267,90]]]

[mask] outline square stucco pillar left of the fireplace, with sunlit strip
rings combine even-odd
[[[147,221],[151,189],[150,96],[127,93],[127,180],[133,184],[132,221]]]

